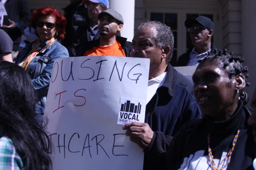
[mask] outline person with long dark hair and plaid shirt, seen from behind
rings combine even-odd
[[[36,101],[26,71],[0,61],[0,169],[51,169],[49,140],[35,121]]]

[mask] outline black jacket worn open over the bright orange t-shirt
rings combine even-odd
[[[126,41],[126,40],[127,40],[127,38],[124,38],[124,37],[121,37],[121,36],[116,36],[116,41],[118,41],[121,44],[122,48],[124,49],[125,56],[130,57],[130,52],[131,52],[131,49],[132,49],[132,43],[129,42],[129,41]],[[76,46],[76,57],[83,56],[84,52],[86,50],[98,46],[99,43],[100,43],[100,38],[96,39],[94,41],[89,41],[89,42],[86,41],[84,43],[78,44]]]

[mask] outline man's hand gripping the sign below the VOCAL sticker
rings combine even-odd
[[[149,125],[141,122],[127,123],[123,126],[123,130],[127,130],[125,135],[143,150],[149,145],[154,135]]]

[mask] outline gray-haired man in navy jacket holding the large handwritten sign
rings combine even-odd
[[[131,57],[150,58],[145,123],[127,123],[123,130],[145,153],[143,169],[164,169],[173,135],[188,120],[201,118],[191,81],[170,64],[174,36],[158,21],[140,24],[132,40]],[[187,87],[187,88],[186,88]]]

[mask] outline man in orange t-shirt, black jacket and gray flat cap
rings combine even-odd
[[[122,30],[123,17],[113,9],[99,13],[99,34],[97,40],[79,44],[76,47],[76,56],[120,56],[129,57],[132,43],[127,38],[117,36]]]

